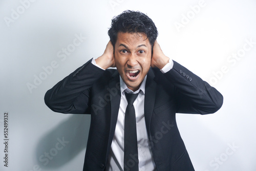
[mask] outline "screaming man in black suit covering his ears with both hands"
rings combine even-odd
[[[165,56],[157,35],[148,16],[124,11],[112,19],[103,55],[46,93],[55,112],[91,115],[83,170],[194,170],[175,115],[215,113],[223,97]]]

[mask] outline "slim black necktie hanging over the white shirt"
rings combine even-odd
[[[138,94],[125,93],[127,107],[124,117],[124,171],[138,171],[138,144],[136,132],[136,117],[133,102]]]

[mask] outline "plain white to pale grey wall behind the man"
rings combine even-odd
[[[45,105],[44,95],[103,53],[112,17],[127,9],[150,16],[165,55],[224,96],[215,114],[177,115],[195,169],[256,170],[255,8],[253,0],[0,1],[0,170],[82,170],[90,116],[54,113]],[[76,36],[83,37],[80,45],[66,58],[60,57],[62,48],[74,47]],[[230,57],[236,53],[241,57]],[[52,62],[55,68],[46,73],[44,68]],[[5,112],[8,167],[3,159]],[[59,140],[66,143],[60,145]],[[47,153],[52,154],[48,163]]]

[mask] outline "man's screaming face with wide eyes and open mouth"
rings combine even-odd
[[[143,33],[117,34],[115,65],[126,86],[136,91],[151,66],[151,44]]]

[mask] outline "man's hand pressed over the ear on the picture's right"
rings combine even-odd
[[[163,54],[157,40],[154,43],[153,55],[151,59],[151,67],[159,68],[160,70],[168,63],[169,58]]]

